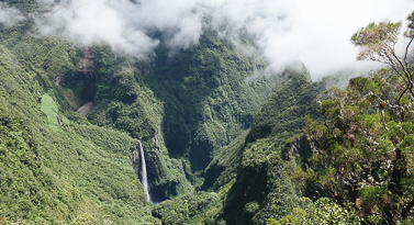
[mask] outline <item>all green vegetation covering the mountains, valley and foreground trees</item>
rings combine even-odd
[[[413,222],[414,85],[410,55],[393,48],[401,23],[351,37],[358,59],[390,70],[323,93],[332,78],[312,82],[301,63],[265,76],[244,33],[242,49],[206,23],[197,45],[172,53],[154,32],[160,44],[142,60],[42,36],[36,1],[3,2],[24,16],[0,24],[0,224]]]

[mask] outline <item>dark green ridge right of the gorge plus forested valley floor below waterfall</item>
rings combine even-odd
[[[177,198],[156,205],[153,215],[166,224],[266,224],[290,214],[301,196],[292,175],[310,154],[301,137],[303,117],[318,119],[316,95],[324,89],[311,82],[302,64],[284,70],[251,127],[204,170],[202,190],[215,198],[202,201],[205,192]]]

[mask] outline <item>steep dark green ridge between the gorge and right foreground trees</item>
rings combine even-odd
[[[224,148],[206,169],[208,176],[216,177],[215,190],[223,182],[232,183],[215,222],[265,224],[269,217],[280,218],[298,206],[292,175],[300,154],[292,150],[292,143],[304,123],[296,116],[317,116],[314,102],[322,90],[323,83],[312,83],[304,67],[281,75],[247,136]],[[296,147],[305,151],[306,142],[299,139]]]

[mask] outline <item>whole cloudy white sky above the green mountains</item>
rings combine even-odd
[[[357,48],[349,42],[354,32],[372,21],[404,21],[414,10],[414,0],[37,1],[53,7],[45,15],[33,15],[40,32],[58,33],[79,46],[105,43],[146,58],[159,45],[149,33],[161,31],[171,52],[186,49],[199,42],[209,20],[228,37],[236,37],[242,29],[255,36],[270,70],[300,60],[313,79],[347,67],[367,67],[356,61]],[[18,20],[19,11],[0,4],[0,23],[12,25]]]

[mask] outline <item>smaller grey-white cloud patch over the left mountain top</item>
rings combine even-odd
[[[49,3],[44,1],[43,3]],[[107,43],[121,50],[143,58],[158,44],[133,23],[125,20],[127,13],[114,8],[115,1],[66,0],[54,5],[53,11],[37,19],[43,34],[60,33],[81,46]],[[128,9],[136,7],[130,1],[120,1]]]

